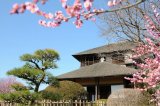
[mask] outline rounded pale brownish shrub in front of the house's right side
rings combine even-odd
[[[107,106],[155,106],[150,103],[151,96],[137,89],[121,89],[113,92]]]

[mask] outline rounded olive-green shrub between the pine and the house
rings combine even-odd
[[[72,81],[60,81],[58,87],[48,86],[44,91],[51,92],[50,95],[57,95],[63,100],[82,99],[86,94],[83,86]]]

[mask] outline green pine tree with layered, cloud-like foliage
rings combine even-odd
[[[28,89],[34,92],[39,91],[41,84],[54,85],[57,80],[48,69],[55,69],[55,62],[59,60],[59,54],[52,49],[37,50],[34,54],[24,54],[20,59],[25,63],[20,68],[14,68],[7,72],[8,75],[16,76],[27,81]]]

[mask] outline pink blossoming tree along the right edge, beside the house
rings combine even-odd
[[[154,11],[156,23],[160,25],[159,8],[156,8],[156,5],[152,2],[151,8]],[[133,58],[141,60],[135,62],[139,70],[133,74],[133,78],[126,79],[133,82],[135,88],[149,92],[153,97],[152,101],[155,101],[157,106],[160,106],[160,32],[149,16],[144,15],[144,18],[148,33],[158,42],[146,38],[145,44],[140,44],[135,48]]]

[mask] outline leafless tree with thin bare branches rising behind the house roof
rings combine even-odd
[[[126,3],[129,5],[134,1],[128,0]],[[126,5],[126,3],[121,3],[120,6]],[[157,4],[158,0],[154,0],[153,3],[157,7],[159,6]],[[101,34],[107,40],[144,42],[144,37],[151,38],[146,32],[144,15],[148,15],[151,19],[154,19],[154,13],[148,1],[132,8],[103,14],[99,17],[100,23],[98,23],[98,26]]]

